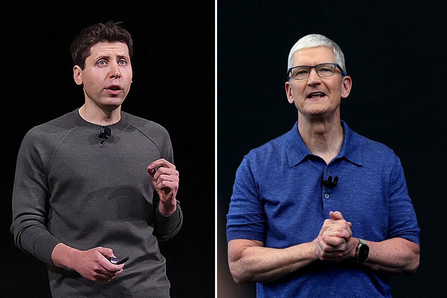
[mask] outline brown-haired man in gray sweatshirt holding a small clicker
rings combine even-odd
[[[72,56],[85,104],[31,129],[18,152],[11,232],[48,265],[53,298],[169,297],[157,241],[182,225],[179,175],[166,130],[121,111],[132,48],[118,23],[82,30]]]

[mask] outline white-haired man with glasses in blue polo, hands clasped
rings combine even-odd
[[[289,55],[292,130],[251,150],[227,215],[228,264],[257,297],[391,297],[419,266],[419,227],[399,158],[340,119],[352,80],[340,48],[304,36]]]

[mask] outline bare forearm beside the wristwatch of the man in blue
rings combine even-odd
[[[414,274],[419,266],[418,244],[403,238],[380,242],[367,241],[370,247],[368,261],[364,264],[375,271],[387,274]]]

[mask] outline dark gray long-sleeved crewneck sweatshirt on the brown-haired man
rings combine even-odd
[[[182,212],[165,217],[153,200],[150,162],[173,162],[169,135],[151,121],[121,113],[101,142],[101,126],[77,110],[34,127],[19,149],[11,232],[16,245],[48,264],[53,298],[169,297],[165,259],[157,240],[173,237]],[[53,248],[112,248],[130,256],[109,283],[91,282],[54,266]],[[150,293],[150,296],[148,296]]]

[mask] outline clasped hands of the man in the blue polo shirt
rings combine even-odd
[[[338,211],[331,211],[329,216],[331,219],[324,221],[314,240],[313,250],[322,261],[338,262],[348,258],[352,252],[352,245],[349,245],[352,224]]]

